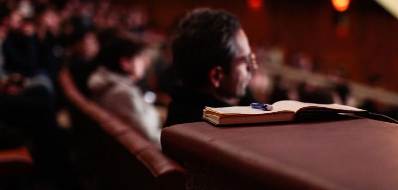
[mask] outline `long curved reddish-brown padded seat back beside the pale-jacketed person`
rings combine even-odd
[[[86,174],[86,182],[97,184],[91,188],[185,188],[185,169],[133,126],[88,100],[77,89],[67,68],[61,70],[59,82],[70,103],[75,148],[77,154],[81,153],[78,168]]]

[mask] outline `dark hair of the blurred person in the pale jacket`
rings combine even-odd
[[[131,58],[144,50],[144,44],[129,39],[115,38],[101,48],[96,62],[107,69],[124,74],[120,66],[120,58]]]

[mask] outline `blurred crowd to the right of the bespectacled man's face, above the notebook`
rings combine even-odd
[[[261,89],[259,100],[273,103],[280,100],[297,100],[319,104],[343,104],[398,118],[398,106],[390,105],[377,97],[355,97],[347,71],[336,67],[325,74],[318,71],[319,64],[311,55],[297,52],[286,55],[281,47],[254,48],[260,57],[260,72],[252,81],[252,89]],[[285,73],[286,72],[286,73]],[[294,75],[294,76],[292,76]],[[367,88],[377,89],[381,76],[368,77]],[[319,80],[319,81],[317,81]],[[371,90],[368,93],[372,93]]]

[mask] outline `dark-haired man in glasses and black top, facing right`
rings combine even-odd
[[[225,11],[189,13],[179,25],[172,52],[182,85],[172,93],[166,127],[201,121],[204,106],[236,104],[257,69],[239,21]]]

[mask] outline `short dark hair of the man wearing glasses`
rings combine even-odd
[[[183,84],[205,85],[215,66],[229,74],[237,51],[234,37],[240,28],[238,19],[222,10],[201,8],[189,13],[172,44],[174,68]]]

